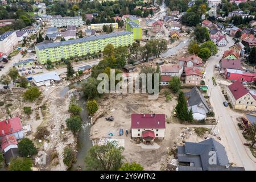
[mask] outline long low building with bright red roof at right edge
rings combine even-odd
[[[229,79],[229,80],[246,81],[246,82],[253,82],[256,77],[255,73],[247,73],[239,69],[226,69],[224,75],[226,79]]]

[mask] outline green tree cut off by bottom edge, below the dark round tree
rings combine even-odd
[[[32,159],[30,158],[16,158],[11,159],[9,164],[9,171],[32,171]]]

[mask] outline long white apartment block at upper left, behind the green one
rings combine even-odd
[[[61,18],[51,18],[50,22],[52,27],[80,27],[84,24],[84,22],[82,21],[82,16],[65,16]]]

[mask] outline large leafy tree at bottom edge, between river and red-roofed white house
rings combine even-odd
[[[92,146],[85,158],[86,169],[96,171],[117,171],[122,166],[123,147],[116,143]]]

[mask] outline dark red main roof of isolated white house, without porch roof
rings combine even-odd
[[[131,114],[132,129],[165,129],[165,114]]]

